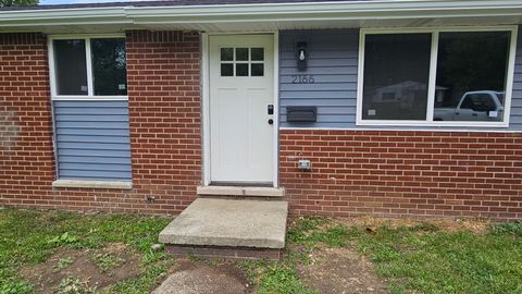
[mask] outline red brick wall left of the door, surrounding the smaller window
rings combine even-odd
[[[0,206],[175,213],[196,197],[199,36],[140,30],[126,38],[134,188],[52,188],[46,38],[0,34]]]

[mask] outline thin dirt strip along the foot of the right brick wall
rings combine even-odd
[[[357,228],[378,228],[387,226],[397,229],[399,226],[417,226],[425,223],[433,224],[438,229],[447,232],[461,232],[470,231],[475,234],[483,234],[489,229],[490,222],[487,219],[433,219],[433,220],[414,220],[414,219],[388,219],[388,218],[374,218],[370,216],[353,217],[353,218],[339,218],[335,222]]]

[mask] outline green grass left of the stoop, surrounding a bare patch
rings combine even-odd
[[[159,232],[169,219],[137,215],[82,215],[65,211],[0,210],[0,293],[34,293],[30,284],[17,277],[23,265],[45,261],[55,248],[100,248],[122,242],[142,256],[138,279],[119,283],[114,293],[148,293],[172,260],[152,252]],[[102,260],[101,262],[103,264]],[[64,281],[64,283],[74,281]]]

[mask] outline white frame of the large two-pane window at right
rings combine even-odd
[[[514,62],[517,54],[518,40],[517,25],[510,26],[467,26],[467,27],[437,27],[437,28],[362,28],[359,36],[359,68],[358,68],[358,86],[357,86],[357,114],[356,125],[374,125],[374,126],[472,126],[472,127],[508,127],[511,113],[511,97],[513,91]],[[504,106],[504,120],[501,122],[465,122],[465,121],[434,121],[434,100],[435,84],[437,77],[437,57],[438,57],[438,39],[440,33],[447,32],[510,32],[510,51],[508,56],[508,71],[506,77],[506,95]],[[427,106],[426,120],[363,120],[362,119],[362,99],[364,88],[364,46],[366,35],[384,35],[384,34],[432,34],[432,49],[430,59],[430,76],[427,88]]]

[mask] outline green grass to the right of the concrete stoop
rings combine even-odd
[[[412,228],[346,228],[302,219],[288,232],[306,247],[351,244],[375,264],[391,293],[522,293],[522,224],[494,225],[485,234]]]

